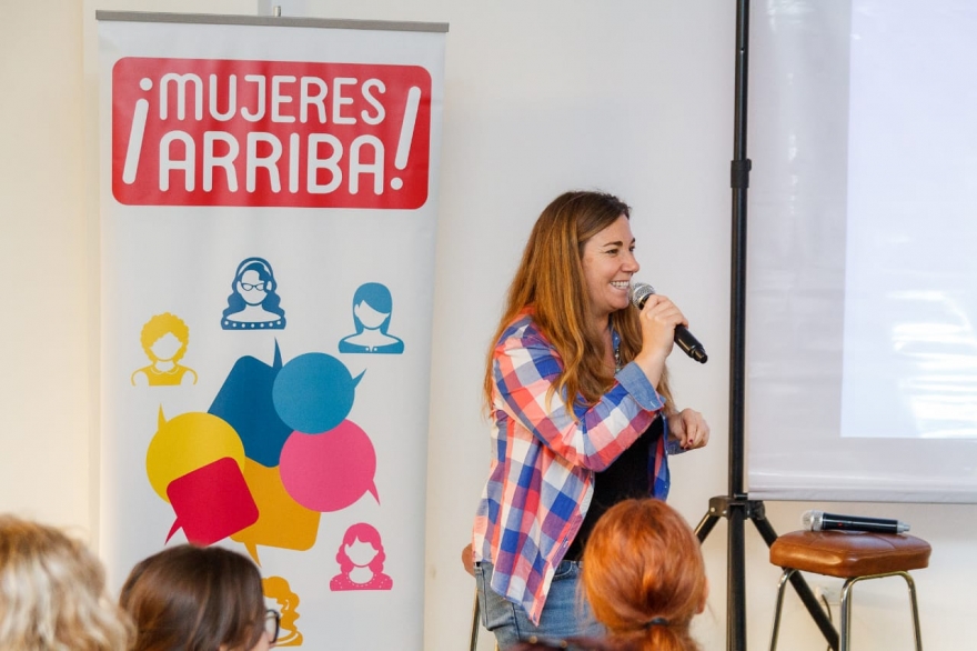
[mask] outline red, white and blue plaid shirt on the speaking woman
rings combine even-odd
[[[556,565],[591,503],[594,472],[637,440],[665,402],[634,363],[592,407],[577,404],[571,413],[560,395],[547,401],[563,362],[530,310],[502,333],[494,359],[493,458],[475,515],[474,557],[493,563],[492,589],[538,624]],[[665,438],[652,445],[648,465],[662,499]]]

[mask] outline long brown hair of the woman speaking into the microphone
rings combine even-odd
[[[583,250],[587,240],[617,221],[631,219],[631,208],[605,192],[571,191],[547,206],[530,233],[522,261],[508,288],[505,309],[495,329],[485,368],[484,394],[492,409],[495,347],[502,332],[516,316],[532,306],[533,321],[550,340],[563,361],[563,373],[553,390],[566,395],[568,408],[581,395],[595,403],[614,383],[604,363],[604,341],[590,318],[591,299],[583,271]],[[642,333],[636,308],[611,314],[611,324],[621,337],[618,354],[627,363],[641,351]],[[663,372],[657,387],[672,409],[668,380]]]

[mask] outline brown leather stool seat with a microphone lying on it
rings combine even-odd
[[[930,551],[928,542],[905,533],[793,531],[770,545],[770,563],[853,579],[926,568]]]

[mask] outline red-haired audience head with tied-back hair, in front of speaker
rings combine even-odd
[[[708,587],[698,539],[659,500],[625,500],[597,521],[583,555],[584,591],[613,641],[633,649],[694,651],[692,618]]]

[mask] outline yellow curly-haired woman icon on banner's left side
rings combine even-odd
[[[157,314],[142,327],[139,341],[152,363],[132,373],[133,387],[197,384],[197,372],[179,363],[190,343],[190,329],[180,317]]]

